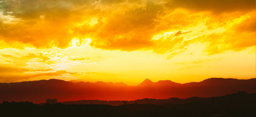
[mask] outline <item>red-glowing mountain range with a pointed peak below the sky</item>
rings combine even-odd
[[[169,99],[170,97],[215,97],[245,91],[256,93],[256,78],[209,78],[201,82],[179,84],[169,80],[152,82],[146,79],[137,86],[124,83],[69,82],[57,79],[0,83],[0,101],[45,102],[73,100],[137,100],[143,98]]]

